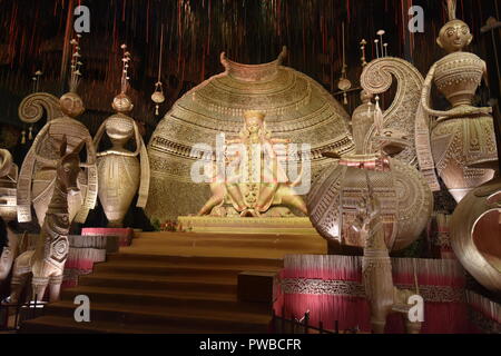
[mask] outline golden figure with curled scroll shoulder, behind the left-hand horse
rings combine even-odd
[[[60,99],[47,92],[36,92],[26,97],[19,106],[19,118],[23,122],[35,123],[46,112],[47,123],[38,132],[33,144],[22,162],[18,180],[18,220],[31,221],[31,204],[33,204],[38,222],[45,220],[47,207],[56,182],[56,150],[62,136],[67,137],[68,151],[80,141],[86,142],[87,162],[81,164],[78,179],[79,192],[69,197],[69,219],[85,222],[97,199],[96,151],[88,129],[76,118],[85,111],[84,102],[78,96],[80,81],[79,37],[71,40],[73,47],[71,60],[70,91]]]

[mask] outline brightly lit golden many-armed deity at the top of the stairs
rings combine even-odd
[[[272,138],[266,130],[265,113],[249,110],[244,118],[239,138],[226,140],[224,169],[213,169],[213,195],[198,215],[259,217],[276,206],[307,214],[303,198],[294,191],[301,174],[291,182],[274,147],[288,140]]]

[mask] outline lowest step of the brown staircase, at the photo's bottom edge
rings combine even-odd
[[[167,325],[130,325],[111,322],[77,323],[72,318],[42,316],[21,325],[21,334],[210,334],[213,329],[181,328]],[[220,330],[219,333],[230,333]]]

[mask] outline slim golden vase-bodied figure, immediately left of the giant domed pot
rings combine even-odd
[[[126,49],[124,46],[122,48]],[[109,227],[122,227],[124,217],[138,189],[137,206],[144,208],[148,199],[148,155],[136,121],[127,116],[127,112],[131,111],[134,107],[130,98],[126,95],[129,60],[128,52],[125,52],[121,92],[115,97],[111,105],[117,113],[102,122],[94,139],[96,151],[98,151],[106,131],[112,146],[110,149],[97,154],[98,196]],[[136,144],[134,152],[125,148],[132,136]],[[140,156],[140,160],[138,156]]]

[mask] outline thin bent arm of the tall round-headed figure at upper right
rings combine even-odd
[[[428,72],[426,79],[423,83],[423,89],[421,91],[421,105],[429,115],[438,117],[439,119],[436,121],[446,120],[450,118],[461,117],[461,116],[469,116],[469,115],[487,115],[492,112],[491,107],[473,107],[473,106],[459,106],[455,108],[452,108],[450,110],[434,110],[430,108],[430,98],[431,98],[431,88],[433,83],[433,78],[435,76],[436,70],[436,63],[430,68],[430,71]]]

